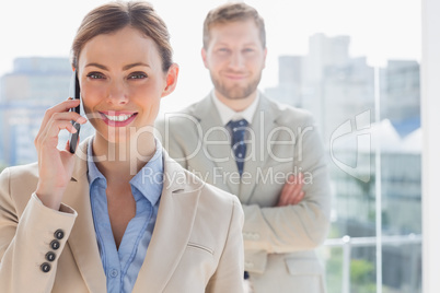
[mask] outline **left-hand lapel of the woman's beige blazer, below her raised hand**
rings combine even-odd
[[[63,202],[78,212],[77,220],[67,241],[77,266],[90,292],[106,292],[106,278],[93,225],[90,204],[89,179],[86,176],[88,140],[77,150],[77,162]]]

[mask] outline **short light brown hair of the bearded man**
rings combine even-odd
[[[218,24],[253,20],[258,27],[263,48],[266,48],[266,30],[264,20],[256,9],[245,3],[227,3],[209,11],[204,22],[204,48],[208,49],[211,38],[210,30]]]

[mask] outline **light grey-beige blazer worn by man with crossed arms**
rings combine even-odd
[[[255,293],[325,292],[324,269],[314,249],[327,236],[331,189],[313,118],[260,94],[251,127],[240,178],[230,134],[210,95],[157,125],[173,159],[242,202],[245,270]],[[305,198],[276,208],[286,176],[298,172],[305,175]]]

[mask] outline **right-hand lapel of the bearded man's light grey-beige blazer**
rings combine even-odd
[[[269,139],[270,141],[276,140],[278,134],[278,131],[273,132],[273,129],[276,127],[275,120],[279,114],[262,93],[259,95],[259,105],[252,121],[254,138],[247,143],[247,160],[244,162],[243,168],[243,174],[246,173],[244,175],[246,177],[243,176],[243,181],[240,185],[240,201],[245,204],[251,200],[256,184],[265,179],[262,178],[265,176],[263,168],[269,159],[268,149],[271,148],[267,143],[269,143]]]

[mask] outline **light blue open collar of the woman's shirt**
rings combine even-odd
[[[161,142],[154,138],[155,152],[150,161],[135,175],[130,180],[131,189],[136,188],[144,196],[152,206],[154,206],[162,195],[163,189],[163,149]],[[88,177],[89,185],[95,180],[104,180],[107,186],[107,180],[104,175],[97,169],[92,150],[93,138],[88,144]]]

